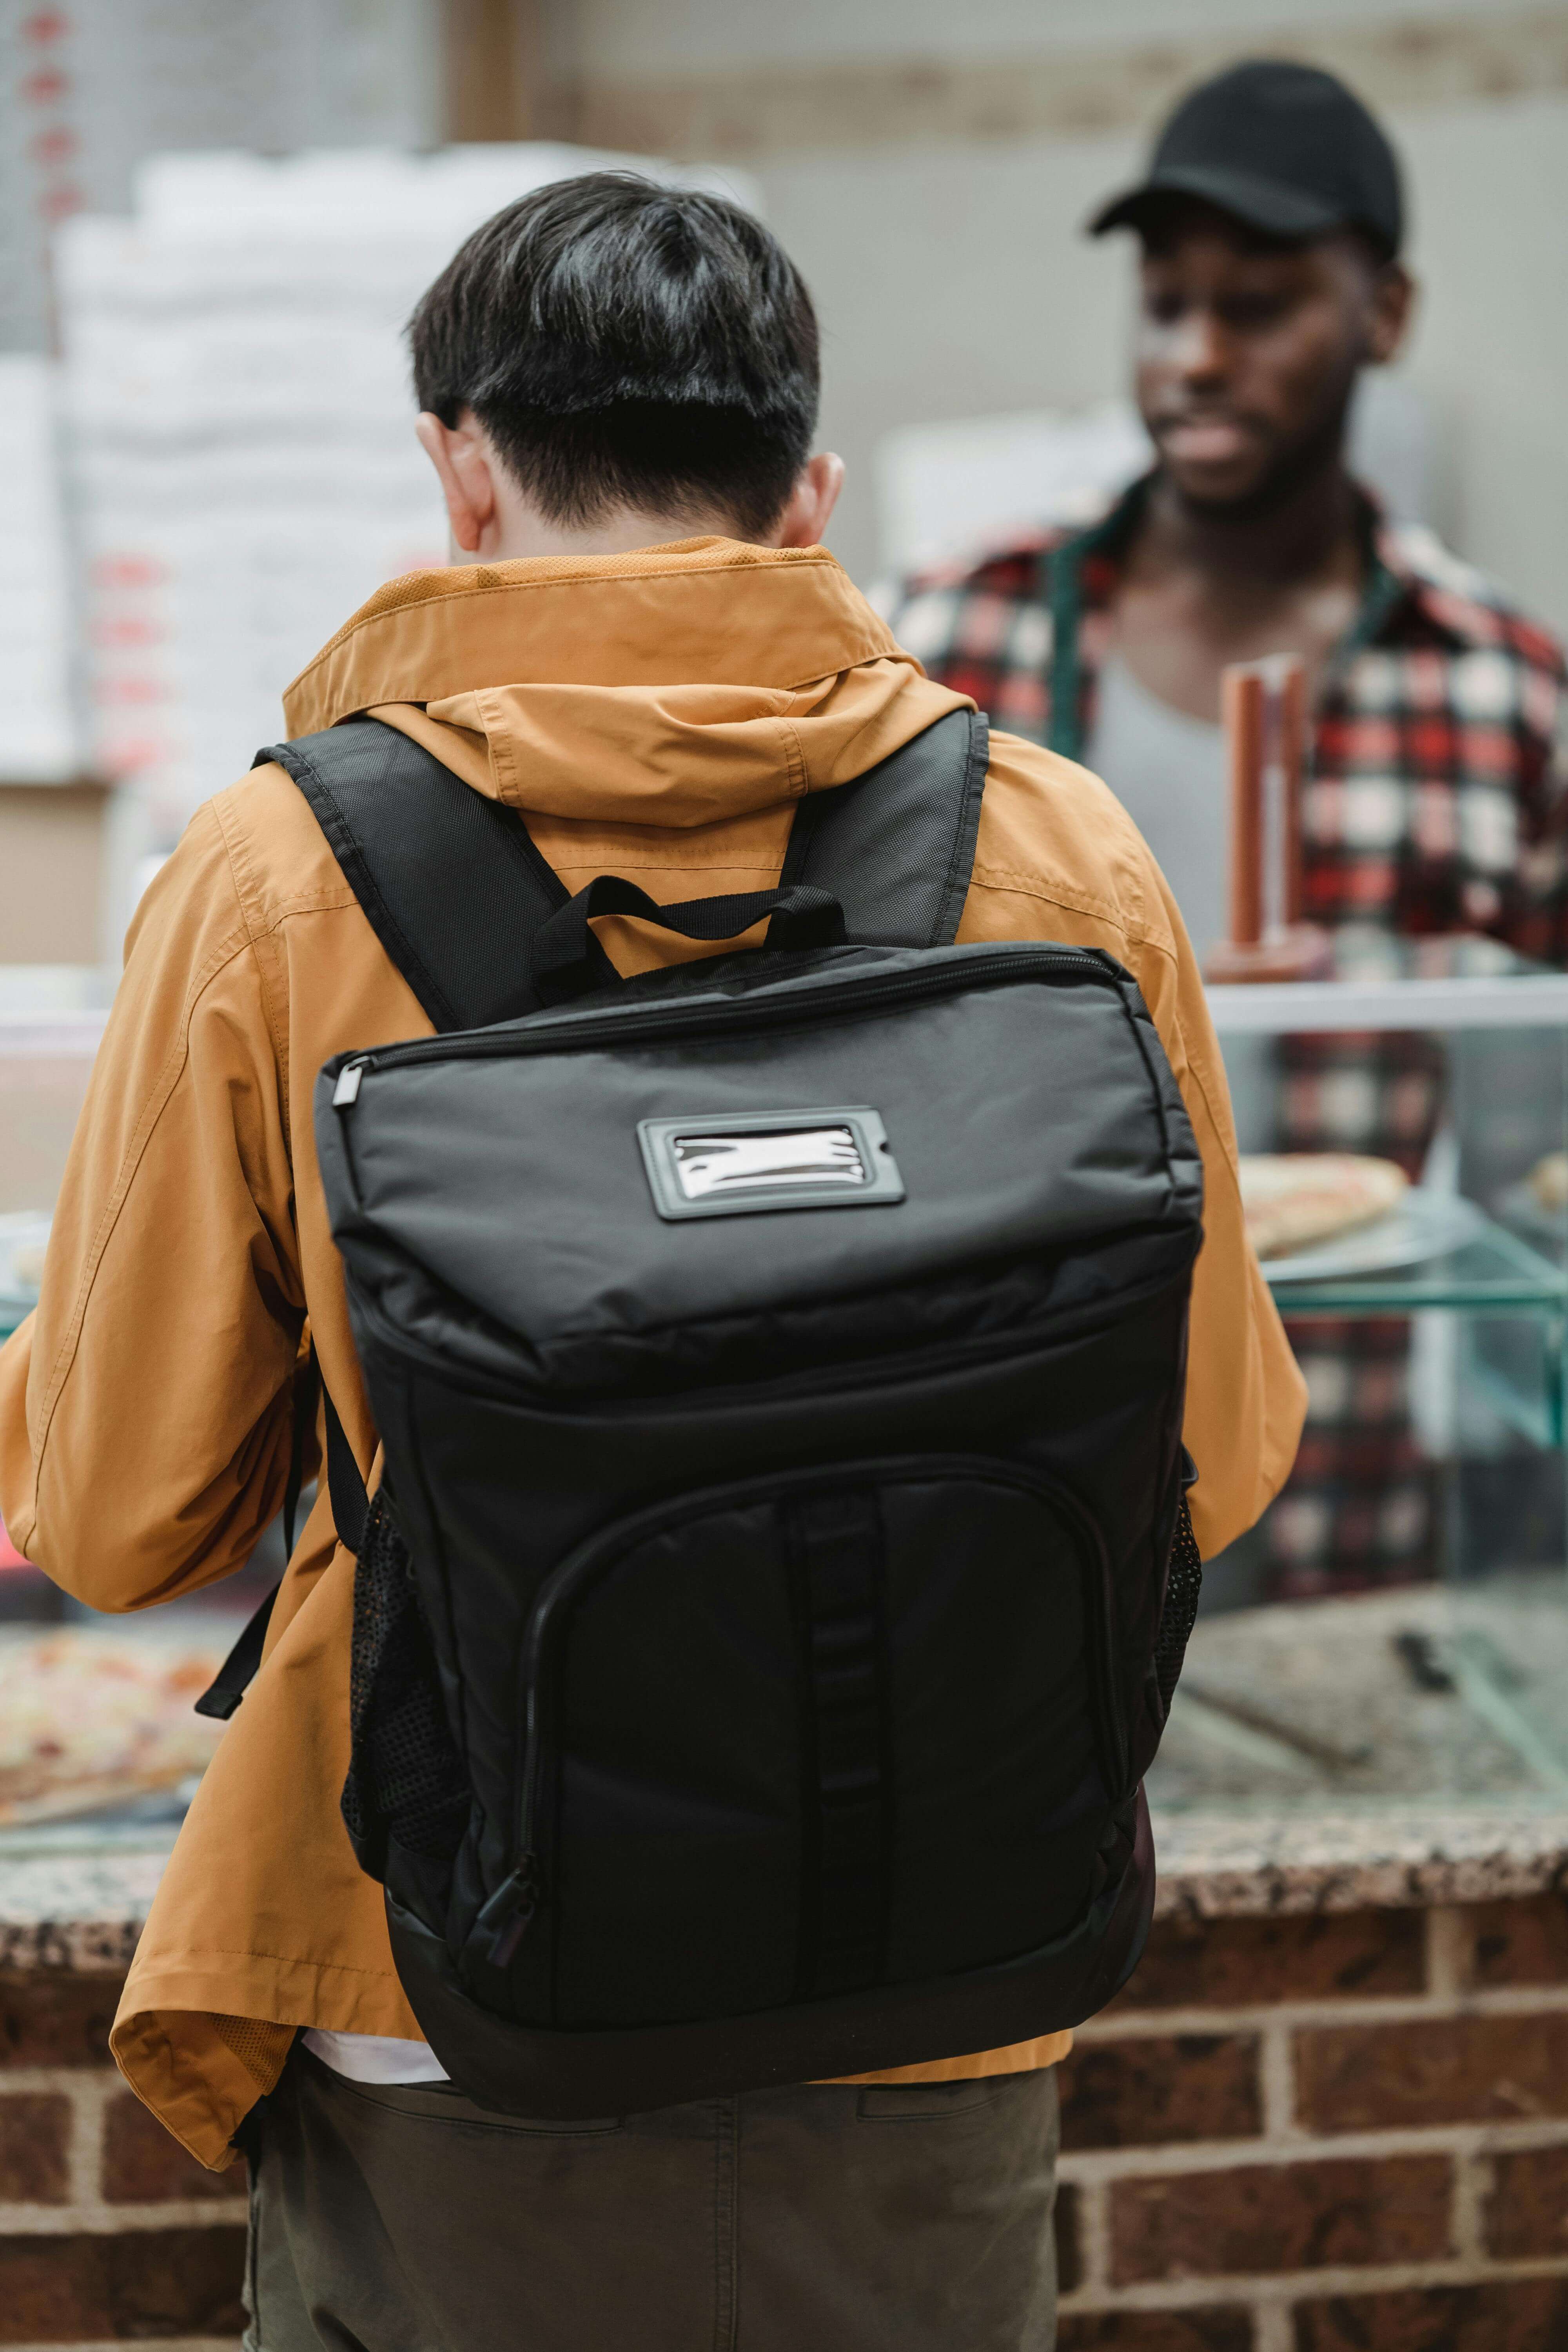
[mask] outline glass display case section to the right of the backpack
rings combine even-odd
[[[1244,1192],[1281,1150],[1387,1157],[1406,1183],[1260,1251],[1307,1432],[1260,1529],[1208,1564],[1152,1797],[1561,1809],[1568,976],[1490,941],[1342,936],[1331,978],[1208,1002]]]

